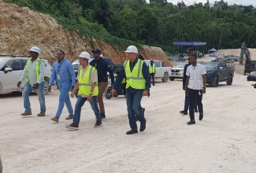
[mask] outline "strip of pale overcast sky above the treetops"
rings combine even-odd
[[[168,2],[172,2],[173,4],[177,4],[177,2],[181,2],[181,0],[167,0]],[[186,5],[192,5],[195,2],[202,2],[203,4],[206,3],[206,0],[183,0],[185,2]],[[220,2],[221,0],[217,0],[217,2]],[[216,2],[216,0],[210,0],[211,4],[214,4],[214,2]],[[256,7],[256,0],[224,0],[224,2],[228,2],[228,5],[242,5],[242,6],[254,6]]]

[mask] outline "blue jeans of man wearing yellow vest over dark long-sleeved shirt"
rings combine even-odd
[[[126,104],[128,111],[129,124],[132,130],[137,130],[137,123],[135,120],[135,114],[140,122],[145,122],[146,119],[143,115],[140,101],[143,98],[143,90],[136,90],[128,88],[126,90]]]

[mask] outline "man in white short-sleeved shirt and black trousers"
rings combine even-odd
[[[190,66],[187,67],[187,80],[185,85],[185,93],[189,98],[189,116],[190,121],[187,125],[195,124],[195,101],[198,104],[199,120],[203,118],[202,110],[202,94],[206,93],[206,68],[202,64],[198,64],[196,54],[188,57]]]

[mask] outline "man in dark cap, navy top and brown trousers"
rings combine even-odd
[[[108,86],[108,75],[111,79],[111,84],[114,83],[113,71],[108,61],[101,57],[102,51],[99,49],[91,50],[95,59],[90,62],[90,65],[95,67],[98,72],[98,107],[102,118],[106,118],[105,108],[103,103],[103,94]]]

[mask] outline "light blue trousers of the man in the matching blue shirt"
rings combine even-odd
[[[69,115],[73,115],[73,109],[69,98],[69,90],[71,89],[71,83],[58,83],[58,89],[60,90],[60,97],[58,98],[58,109],[56,117],[61,116],[61,112],[64,108],[64,105],[67,106]]]

